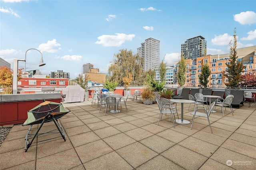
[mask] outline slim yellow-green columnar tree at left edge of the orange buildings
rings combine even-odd
[[[182,87],[185,84],[186,80],[186,59],[183,55],[183,51],[181,52],[180,60],[178,62],[178,71],[177,71],[177,80],[178,84]]]

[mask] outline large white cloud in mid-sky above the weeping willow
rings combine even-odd
[[[120,47],[125,41],[132,41],[134,34],[126,35],[124,33],[115,33],[116,35],[101,35],[97,37],[99,41],[96,44],[102,44],[104,47]]]

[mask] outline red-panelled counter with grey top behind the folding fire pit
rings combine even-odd
[[[3,94],[0,95],[0,126],[24,123],[27,111],[44,100],[60,103],[61,94]]]

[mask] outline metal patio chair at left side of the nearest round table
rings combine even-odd
[[[170,104],[169,100],[167,100],[166,98],[159,98],[156,100],[156,102],[160,110],[157,125],[159,124],[159,121],[162,120],[162,115],[164,113],[170,114],[170,121],[171,121],[171,116],[174,115],[174,113],[176,113],[178,116],[178,113],[172,108],[172,104]],[[175,128],[174,121],[175,121],[175,115],[174,115],[174,118],[172,116],[172,123],[173,123],[173,127]]]

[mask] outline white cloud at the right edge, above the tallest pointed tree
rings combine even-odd
[[[234,20],[242,25],[256,23],[256,13],[253,11],[241,12],[234,15]]]

